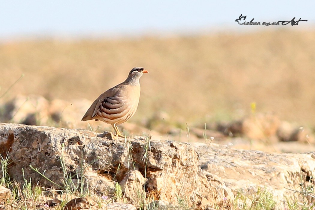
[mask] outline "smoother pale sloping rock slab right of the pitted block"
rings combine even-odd
[[[292,197],[292,190],[300,192],[301,183],[314,183],[312,174],[315,172],[315,151],[272,154],[257,150],[237,150],[220,144],[192,145],[202,154],[199,163],[210,183],[222,183],[234,195],[238,191],[253,194],[257,187],[266,188],[283,208],[285,197]]]

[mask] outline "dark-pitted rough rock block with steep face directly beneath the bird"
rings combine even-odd
[[[132,201],[139,199],[130,193],[136,187],[156,200],[177,204],[179,198],[185,199],[196,209],[214,207],[229,196],[221,186],[209,185],[194,148],[175,141],[113,139],[109,132],[0,123],[0,153],[9,153],[9,175],[21,183],[24,168],[32,183],[58,188],[31,170],[32,165],[60,186],[65,171],[73,183],[84,181],[90,190],[100,193],[112,190],[118,181]],[[146,185],[130,186],[133,182],[143,184],[140,175]]]

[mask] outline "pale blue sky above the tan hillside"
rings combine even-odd
[[[240,26],[235,19],[275,22],[307,19],[312,28],[315,1],[83,1],[0,0],[0,39],[32,36],[113,36],[251,30],[280,26]]]

